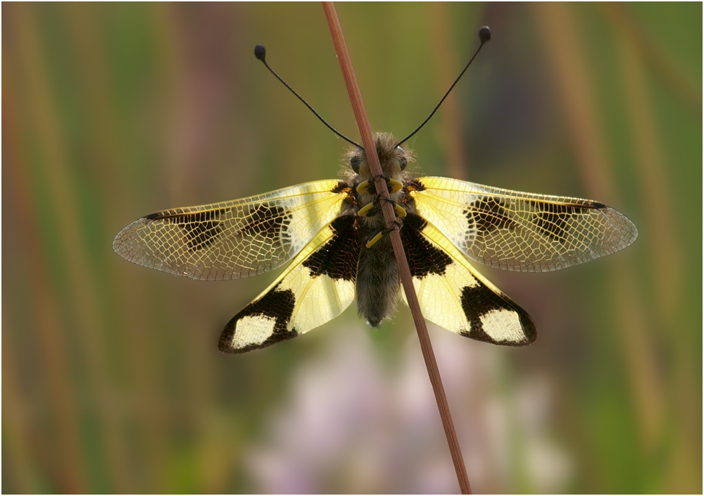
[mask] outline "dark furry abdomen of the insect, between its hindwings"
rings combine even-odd
[[[400,282],[389,236],[363,248],[357,265],[357,309],[371,327],[379,327],[396,308]]]

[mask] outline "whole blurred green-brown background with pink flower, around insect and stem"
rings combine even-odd
[[[557,273],[482,268],[533,316],[431,328],[477,492],[702,491],[702,4],[339,4],[372,128],[416,166],[589,197],[639,228]],[[120,259],[135,218],[335,178],[358,139],[319,4],[2,4],[3,492],[457,492],[408,309],[218,353],[275,274]],[[696,262],[696,263],[695,263]]]

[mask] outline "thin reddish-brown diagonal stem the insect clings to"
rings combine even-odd
[[[332,42],[335,46],[335,52],[337,53],[337,59],[340,62],[342,75],[344,77],[347,92],[352,103],[352,109],[354,111],[355,118],[357,119],[360,135],[362,135],[362,143],[364,144],[367,162],[371,168],[372,175],[377,178],[375,182],[377,193],[380,197],[387,198],[389,197],[389,191],[386,188],[386,181],[382,178],[382,166],[381,163],[379,163],[379,156],[377,156],[377,147],[374,144],[372,128],[370,127],[369,120],[367,119],[367,113],[364,109],[364,104],[362,101],[362,94],[360,93],[359,86],[357,85],[357,78],[352,68],[352,61],[350,60],[345,39],[342,35],[342,28],[340,27],[339,20],[337,19],[337,12],[335,11],[335,7],[332,2],[323,2],[322,8],[325,11],[325,17],[327,18],[327,24],[330,28]],[[390,202],[382,202],[382,211],[384,212],[386,225],[392,225],[396,221],[394,207]],[[410,268],[408,268],[406,252],[403,251],[401,235],[399,235],[398,230],[393,230],[389,233],[389,237],[391,237],[391,245],[394,247],[394,255],[396,256],[396,262],[398,263],[398,273],[401,275],[401,284],[403,284],[403,290],[406,291],[406,298],[408,299],[408,306],[410,306],[410,313],[413,315],[415,328],[418,332],[420,349],[422,349],[423,352],[423,358],[425,359],[425,366],[428,369],[430,383],[432,384],[433,391],[435,392],[435,400],[438,404],[440,418],[442,420],[447,442],[450,447],[450,454],[452,456],[453,464],[455,465],[457,481],[460,484],[460,490],[463,494],[472,494],[472,488],[470,488],[470,481],[467,478],[465,462],[462,458],[462,452],[460,452],[460,444],[457,441],[457,434],[455,433],[455,426],[452,423],[452,417],[450,415],[450,409],[448,408],[447,399],[445,397],[445,390],[440,378],[440,372],[435,360],[428,330],[425,326],[425,318],[423,318],[420,311],[420,305],[418,304],[415,289],[413,288],[413,279],[410,275]]]

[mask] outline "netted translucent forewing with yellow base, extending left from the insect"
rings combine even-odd
[[[193,279],[256,275],[289,261],[339,214],[344,186],[315,181],[152,213],[122,229],[113,249],[139,265]]]

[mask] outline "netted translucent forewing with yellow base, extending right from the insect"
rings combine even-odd
[[[638,235],[622,213],[587,199],[449,178],[420,178],[410,190],[417,213],[460,252],[511,271],[555,271],[624,249]]]

